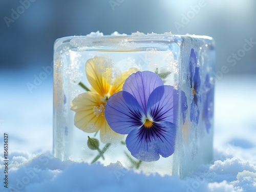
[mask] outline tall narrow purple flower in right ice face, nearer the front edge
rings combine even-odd
[[[197,66],[197,56],[194,49],[191,49],[189,56],[189,68],[190,68],[190,86],[193,92],[193,100],[190,106],[190,121],[198,124],[199,120],[199,105],[201,103],[200,95],[200,75],[199,67]]]

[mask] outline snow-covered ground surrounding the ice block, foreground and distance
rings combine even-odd
[[[0,75],[5,90],[0,95],[0,191],[256,191],[254,76],[225,74],[217,82],[214,160],[181,180],[136,174],[118,162],[104,167],[53,158],[52,78],[30,93],[33,74],[11,80],[15,75]],[[4,133],[9,136],[8,188],[3,183]]]

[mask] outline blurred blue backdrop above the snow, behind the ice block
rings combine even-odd
[[[254,0],[31,1],[0,1],[1,71],[41,70],[41,66],[52,65],[56,38],[99,30],[104,34],[172,31],[212,36],[217,71],[227,66],[228,73],[256,73],[256,45],[247,46],[249,51],[240,50],[246,39],[256,44]],[[13,14],[13,10],[20,14]],[[7,22],[7,17],[15,19]],[[239,50],[243,56],[232,58]],[[235,60],[228,61],[228,57]]]

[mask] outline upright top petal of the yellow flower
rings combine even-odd
[[[96,56],[93,59],[87,60],[86,76],[93,89],[104,98],[109,93],[110,84],[106,82],[101,74],[104,71],[97,69],[97,66],[101,66],[102,62],[104,62],[104,59]]]

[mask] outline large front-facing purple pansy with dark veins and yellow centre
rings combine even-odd
[[[164,86],[162,79],[150,71],[130,75],[122,90],[106,103],[105,118],[112,130],[128,134],[126,146],[137,159],[157,161],[159,155],[172,155],[178,91]],[[181,99],[186,103],[185,95]]]

